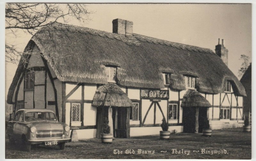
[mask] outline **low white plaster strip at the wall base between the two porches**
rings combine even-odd
[[[183,132],[183,126],[169,126],[169,131],[176,129],[178,132]],[[143,131],[143,132],[141,132]],[[162,128],[158,127],[136,127],[130,129],[130,136],[146,136],[146,135],[160,135]]]

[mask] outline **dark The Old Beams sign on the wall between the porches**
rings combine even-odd
[[[140,98],[168,100],[169,90],[140,89]]]

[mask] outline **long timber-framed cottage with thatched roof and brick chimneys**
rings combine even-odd
[[[115,19],[112,23],[113,33],[59,23],[38,31],[28,42],[8,92],[13,112],[50,108],[60,121],[78,127],[80,138],[95,137],[101,130],[96,125],[103,107],[93,106],[94,95],[100,86],[110,83],[124,92],[110,96],[117,100],[128,96],[132,102],[128,107],[125,99],[126,103],[107,110],[115,136],[154,134],[161,129],[163,118],[170,129],[182,132],[183,120],[188,119],[183,111],[190,107],[181,107],[181,103],[188,90],[192,92],[187,96],[196,98],[198,107],[211,106],[202,107],[199,118],[208,117],[212,129],[242,125],[239,120],[246,94],[227,67],[224,40],[222,44],[219,40],[214,53],[135,34],[131,21]],[[198,94],[203,97],[197,98]],[[115,99],[105,101],[109,100]],[[200,132],[200,126],[193,130]]]

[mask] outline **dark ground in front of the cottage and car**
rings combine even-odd
[[[78,143],[67,143],[65,150],[59,150],[58,146],[39,145],[31,147],[31,152],[20,150],[20,145],[10,149],[9,141],[6,139],[5,158],[251,159],[251,133],[242,131],[242,128],[213,130],[212,137],[204,137],[201,136],[202,134],[177,133],[171,135],[169,140],[160,140],[158,135],[132,137],[129,139],[117,138],[113,140],[112,144],[102,144],[99,139],[94,138],[81,140]],[[138,154],[138,149],[146,151],[147,154]],[[177,154],[174,149],[177,150]],[[182,149],[183,154],[181,153]],[[201,149],[210,150],[210,154],[202,154]],[[114,154],[114,150],[123,151],[123,154]],[[134,150],[134,154],[125,154],[125,150],[131,150],[131,152]],[[181,150],[180,154],[178,154],[179,150]],[[184,153],[185,150],[187,150],[186,154]],[[217,150],[217,154],[211,154],[211,150]],[[220,154],[218,154],[218,150],[220,150]],[[151,151],[151,154],[148,154],[148,151]],[[174,153],[172,153],[173,151]]]

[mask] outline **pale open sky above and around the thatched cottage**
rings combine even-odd
[[[237,77],[240,55],[249,56],[251,62],[251,4],[87,4],[87,8],[92,12],[90,21],[78,23],[69,18],[68,24],[112,32],[112,20],[121,18],[133,22],[133,33],[213,51],[218,39],[225,39],[228,67]],[[23,51],[31,37],[19,32],[19,37],[5,41]],[[5,65],[6,95],[16,69],[16,64]]]

